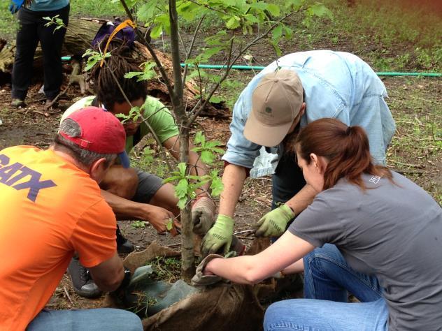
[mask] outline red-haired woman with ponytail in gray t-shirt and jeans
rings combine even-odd
[[[305,299],[271,304],[264,330],[439,330],[441,207],[406,177],[374,165],[359,126],[318,119],[291,147],[319,192],[313,203],[265,251],[208,256],[195,280],[215,274],[255,284],[279,270],[304,271]],[[359,302],[348,303],[348,293]]]

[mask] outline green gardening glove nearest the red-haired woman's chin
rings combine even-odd
[[[287,223],[294,217],[294,212],[287,205],[280,205],[271,212],[265,214],[258,221],[257,237],[279,237],[285,231]]]

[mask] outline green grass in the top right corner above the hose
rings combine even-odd
[[[403,0],[359,0],[352,8],[346,0],[322,2],[334,21],[329,29],[319,29],[320,34],[327,31],[332,41],[340,34],[350,37],[359,52],[365,48],[376,70],[442,70],[442,20],[431,8]]]

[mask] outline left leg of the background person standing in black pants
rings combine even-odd
[[[32,63],[38,44],[37,20],[35,12],[22,8],[18,11],[17,19],[20,27],[17,31],[15,59],[12,74],[11,105],[24,106],[29,84],[32,77]]]

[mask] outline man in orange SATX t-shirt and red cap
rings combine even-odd
[[[119,309],[44,309],[74,252],[107,291],[127,285],[116,220],[99,182],[115,162],[128,166],[126,135],[101,108],[73,112],[49,149],[0,151],[0,330],[142,330]]]

